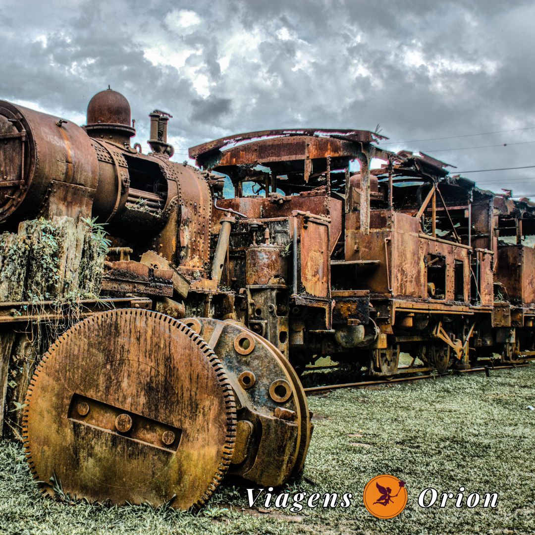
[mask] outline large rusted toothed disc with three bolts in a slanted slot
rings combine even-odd
[[[235,400],[219,358],[157,312],[74,325],[37,366],[26,403],[27,458],[45,494],[53,476],[77,498],[188,509],[232,460]]]

